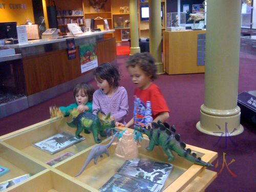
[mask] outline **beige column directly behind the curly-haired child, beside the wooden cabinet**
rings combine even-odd
[[[148,5],[150,7],[150,53],[156,60],[157,74],[163,74],[161,0],[149,0]]]

